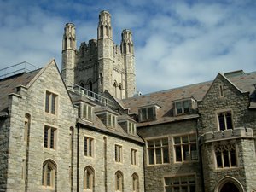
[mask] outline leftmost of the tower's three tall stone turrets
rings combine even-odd
[[[76,34],[73,23],[67,23],[64,28],[62,40],[62,67],[61,75],[66,81],[67,87],[73,86],[74,67],[76,55]]]

